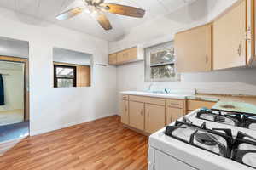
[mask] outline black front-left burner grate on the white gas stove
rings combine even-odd
[[[177,121],[175,126],[167,126],[165,133],[167,136],[210,151],[219,156],[230,157],[230,146],[233,142],[230,129],[219,128],[218,131],[215,131],[208,129],[206,123],[203,123],[201,126],[196,126],[192,123]],[[207,139],[204,140],[202,139],[203,137]],[[203,144],[206,142],[207,144]]]

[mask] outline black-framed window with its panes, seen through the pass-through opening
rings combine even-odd
[[[76,67],[67,65],[54,65],[55,88],[76,87]]]

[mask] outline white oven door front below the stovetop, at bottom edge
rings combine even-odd
[[[196,170],[197,168],[191,167],[189,164],[177,160],[172,156],[168,156],[165,153],[155,150],[154,153],[154,170],[170,170],[170,169],[182,169],[182,170]]]

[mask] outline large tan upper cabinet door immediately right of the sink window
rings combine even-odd
[[[212,70],[212,25],[179,32],[174,44],[178,72]]]

